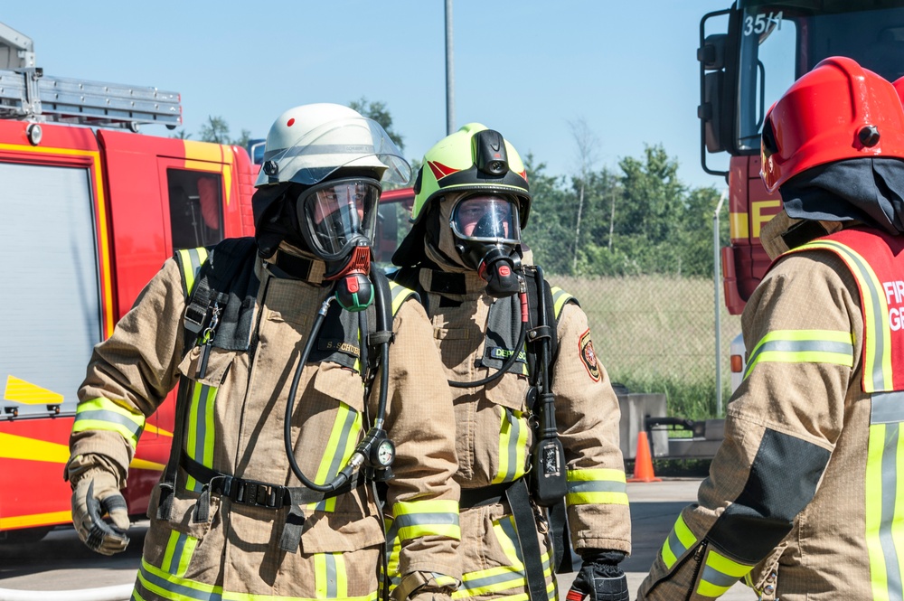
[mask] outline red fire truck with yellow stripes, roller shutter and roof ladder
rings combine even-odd
[[[91,349],[174,249],[253,231],[243,148],[138,134],[182,122],[177,94],[43,76],[0,24],[0,540],[68,523],[68,440]],[[153,333],[149,333],[153,335]],[[126,496],[146,510],[173,400],[137,446]]]

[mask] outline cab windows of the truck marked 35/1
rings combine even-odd
[[[890,81],[904,75],[904,1],[740,4],[739,149],[759,152],[768,108],[824,58],[851,57]]]

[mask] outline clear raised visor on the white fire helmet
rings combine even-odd
[[[254,185],[315,185],[343,168],[372,169],[386,183],[404,184],[411,179],[410,164],[380,124],[353,117],[306,131],[299,127],[299,135],[286,147],[265,151]]]

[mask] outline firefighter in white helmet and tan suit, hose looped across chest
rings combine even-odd
[[[256,237],[180,250],[88,366],[67,465],[91,549],[125,549],[137,439],[178,385],[174,444],[133,599],[374,600],[387,509],[411,596],[457,587],[446,377],[413,293],[370,269],[382,181],[408,164],[333,104],[267,138]],[[101,516],[108,512],[112,523]]]

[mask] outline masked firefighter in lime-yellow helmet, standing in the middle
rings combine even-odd
[[[428,151],[415,192],[394,277],[418,289],[454,397],[456,597],[555,598],[570,538],[583,559],[574,588],[593,601],[627,599],[618,403],[587,315],[525,254],[531,193],[521,157],[472,123]]]

